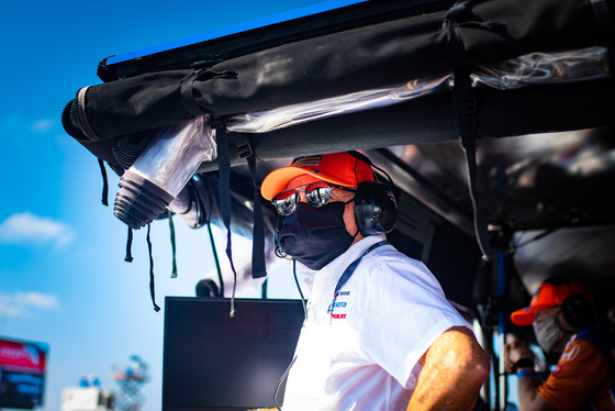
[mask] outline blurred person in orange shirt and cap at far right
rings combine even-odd
[[[516,340],[504,347],[506,371],[518,377],[522,411],[615,410],[615,336],[596,321],[593,296],[566,278],[543,282],[529,307],[514,311],[516,325],[533,325],[545,353],[561,353],[546,380],[534,352]]]

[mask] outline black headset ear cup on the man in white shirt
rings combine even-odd
[[[362,235],[393,230],[398,220],[398,203],[385,184],[359,182],[355,193],[355,220]]]

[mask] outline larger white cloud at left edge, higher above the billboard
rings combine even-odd
[[[75,234],[68,225],[30,212],[13,214],[0,224],[1,243],[54,243],[64,246],[74,237]]]

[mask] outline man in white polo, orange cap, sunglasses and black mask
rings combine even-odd
[[[425,265],[385,241],[396,204],[371,166],[298,157],[262,181],[278,253],[315,270],[283,410],[471,410],[489,358]]]

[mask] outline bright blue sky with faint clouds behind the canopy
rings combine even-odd
[[[152,375],[144,409],[160,409],[164,312],[154,312],[149,300],[145,230],[135,233],[134,262],[125,263],[126,227],[101,204],[96,158],[64,132],[64,105],[79,88],[101,82],[96,73],[103,57],[316,2],[36,0],[3,8],[0,337],[48,344],[40,410],[59,410],[63,387],[83,375],[118,388],[113,367],[133,354]],[[110,202],[116,182],[110,171]],[[206,230],[181,220],[176,229],[179,277],[170,279],[168,224],[152,227],[160,307],[164,296],[193,296],[214,267]],[[294,298],[284,282],[290,271],[281,276],[271,292]]]

